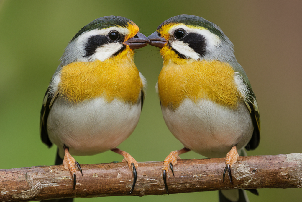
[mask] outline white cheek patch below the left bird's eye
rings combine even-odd
[[[104,60],[110,58],[114,53],[119,51],[122,47],[123,47],[122,44],[114,43],[114,42],[104,44],[95,50],[95,54],[92,55],[92,57],[90,57],[89,60],[98,59],[100,61],[104,61]]]

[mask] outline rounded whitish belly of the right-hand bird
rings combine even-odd
[[[225,157],[234,145],[239,151],[254,130],[244,103],[230,110],[209,100],[195,104],[186,99],[175,111],[162,107],[162,114],[169,130],[185,147],[209,158]]]

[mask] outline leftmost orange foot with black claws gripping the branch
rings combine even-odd
[[[73,181],[73,190],[76,188],[76,170],[79,169],[81,171],[81,174],[83,176],[82,168],[78,162],[69,154],[69,149],[64,145],[64,159],[63,159],[63,165],[66,170],[69,170],[72,176]]]

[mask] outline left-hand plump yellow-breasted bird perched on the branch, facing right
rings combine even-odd
[[[121,16],[85,25],[69,41],[43,99],[40,137],[57,146],[55,164],[70,171],[73,190],[80,164],[72,155],[114,151],[133,173],[137,161],[117,148],[133,132],[143,107],[146,78],[134,64],[134,50],[149,44],[140,28]],[[83,175],[83,174],[82,174]]]

